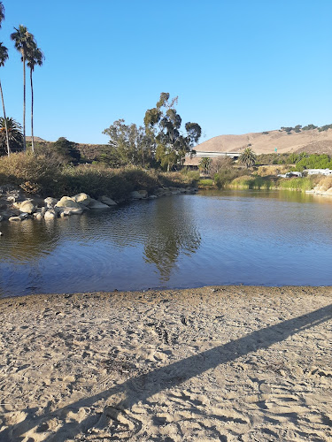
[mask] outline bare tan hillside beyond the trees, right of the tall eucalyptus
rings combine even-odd
[[[198,144],[200,152],[241,152],[246,147],[256,154],[277,152],[308,152],[332,155],[332,129],[302,130],[301,132],[266,131],[264,133],[244,133],[243,135],[220,135]]]

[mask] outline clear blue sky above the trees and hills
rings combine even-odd
[[[23,69],[10,40],[22,24],[45,54],[34,75],[35,135],[45,140],[106,143],[104,128],[143,124],[160,92],[179,96],[183,124],[200,124],[201,141],[332,123],[330,0],[3,4],[7,115],[22,123]],[[27,135],[29,97],[27,88]]]

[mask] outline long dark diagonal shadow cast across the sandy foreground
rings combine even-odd
[[[305,331],[332,319],[332,304],[314,310],[303,316],[283,321],[282,323],[271,325],[259,331],[253,331],[243,338],[235,339],[225,345],[213,347],[210,350],[190,356],[178,362],[166,365],[157,370],[129,378],[126,382],[116,385],[111,389],[99,392],[89,398],[84,398],[67,405],[64,408],[50,411],[50,407],[44,409],[42,415],[34,415],[33,409],[24,410],[27,412],[27,418],[21,423],[12,425],[11,427],[0,433],[0,440],[19,441],[22,435],[27,431],[39,427],[42,431],[44,423],[54,417],[64,421],[69,412],[77,413],[79,408],[89,408],[94,406],[99,400],[110,400],[112,395],[116,394],[117,398],[123,399],[112,406],[106,406],[104,413],[95,416],[94,423],[98,418],[102,418],[104,423],[108,421],[124,422],[126,421],[126,410],[132,408],[140,401],[147,400],[152,395],[166,389],[170,389],[182,382],[189,380],[191,377],[197,377],[206,370],[213,369],[220,364],[235,361],[237,358],[256,352],[280,342],[290,336]],[[118,399],[119,400],[119,399]],[[112,402],[114,404],[114,401]],[[63,442],[68,438],[73,439],[82,431],[88,431],[92,423],[91,415],[79,424],[65,423],[58,431],[50,434],[46,439],[48,442]],[[94,424],[92,423],[92,425]],[[47,429],[47,425],[45,430]],[[47,431],[47,430],[46,430]],[[139,431],[136,429],[135,432]],[[118,439],[115,437],[115,439]],[[32,440],[32,439],[31,439]],[[82,439],[81,439],[82,440]],[[84,439],[83,439],[84,440]],[[110,440],[112,435],[110,434]]]

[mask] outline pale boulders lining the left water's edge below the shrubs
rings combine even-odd
[[[134,201],[172,194],[194,194],[196,191],[197,189],[192,187],[159,187],[150,195],[146,190],[132,192],[129,199]],[[27,198],[27,195],[23,194],[17,187],[0,187],[0,222],[19,222],[27,218],[55,219],[57,217],[69,217],[71,215],[81,215],[84,210],[108,209],[116,205],[118,205],[118,202],[107,195],[100,196],[97,200],[84,193],[63,196],[59,200],[50,196],[45,199],[39,197]]]

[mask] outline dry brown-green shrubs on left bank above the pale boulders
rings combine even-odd
[[[0,157],[0,186],[13,184],[29,194],[60,197],[85,192],[97,198],[103,194],[120,201],[130,192],[158,187],[196,185],[197,175],[143,170],[135,167],[111,169],[92,164],[63,165],[57,157],[12,154]]]

